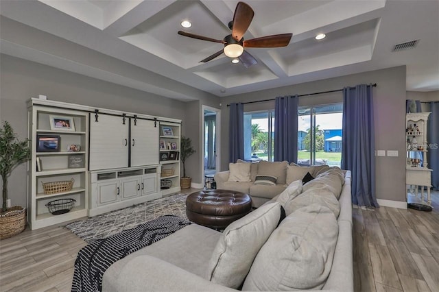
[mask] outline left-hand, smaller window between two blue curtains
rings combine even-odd
[[[274,110],[244,113],[244,157],[248,161],[273,161]]]

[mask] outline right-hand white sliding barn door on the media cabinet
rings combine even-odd
[[[158,123],[131,119],[131,166],[158,164]]]

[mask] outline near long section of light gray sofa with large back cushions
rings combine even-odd
[[[332,168],[331,168],[332,169]],[[281,206],[286,217],[279,223]],[[283,192],[224,232],[191,224],[117,261],[103,291],[353,291],[351,172]]]

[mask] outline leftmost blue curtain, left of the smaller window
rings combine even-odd
[[[230,104],[228,161],[244,160],[244,104]]]

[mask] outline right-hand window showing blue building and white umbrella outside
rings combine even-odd
[[[343,104],[298,109],[298,165],[340,167]]]

